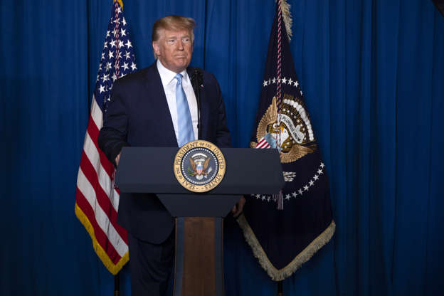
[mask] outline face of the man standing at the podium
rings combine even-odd
[[[159,35],[159,40],[152,43],[154,53],[165,68],[181,73],[188,67],[193,54],[191,32],[162,29]]]

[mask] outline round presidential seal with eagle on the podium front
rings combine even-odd
[[[189,142],[174,157],[174,175],[189,191],[210,191],[221,183],[225,170],[225,157],[211,142]]]

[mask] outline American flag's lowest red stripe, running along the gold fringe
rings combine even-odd
[[[94,236],[97,243],[99,243],[102,249],[105,250],[105,253],[107,253],[108,257],[110,257],[112,263],[117,264],[122,257],[120,257],[112,243],[110,243],[110,240],[108,240],[105,232],[103,232],[102,228],[100,228],[100,226],[97,224],[93,208],[91,208],[88,200],[85,198],[85,196],[83,196],[82,192],[78,188],[76,191],[76,203],[83,213],[85,213],[85,216],[88,218],[88,221],[90,221],[91,226],[93,226]]]

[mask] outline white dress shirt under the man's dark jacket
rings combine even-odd
[[[159,70],[160,79],[162,80],[162,85],[164,87],[166,102],[168,103],[169,113],[171,114],[171,119],[173,120],[174,132],[176,133],[176,139],[179,139],[179,127],[177,126],[177,108],[176,108],[176,83],[177,80],[174,78],[177,73],[168,70],[162,65],[160,60],[157,60],[157,70]],[[186,95],[186,100],[188,100],[188,106],[191,112],[191,121],[193,123],[194,139],[198,137],[197,131],[197,100],[196,95],[194,95],[193,86],[191,85],[191,80],[183,70],[182,75],[182,88]]]

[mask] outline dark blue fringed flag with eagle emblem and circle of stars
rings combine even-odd
[[[325,165],[290,52],[284,21],[289,14],[288,4],[278,1],[250,143],[279,150],[285,186],[275,195],[249,196],[238,218],[253,254],[276,281],[310,260],[336,227]]]

